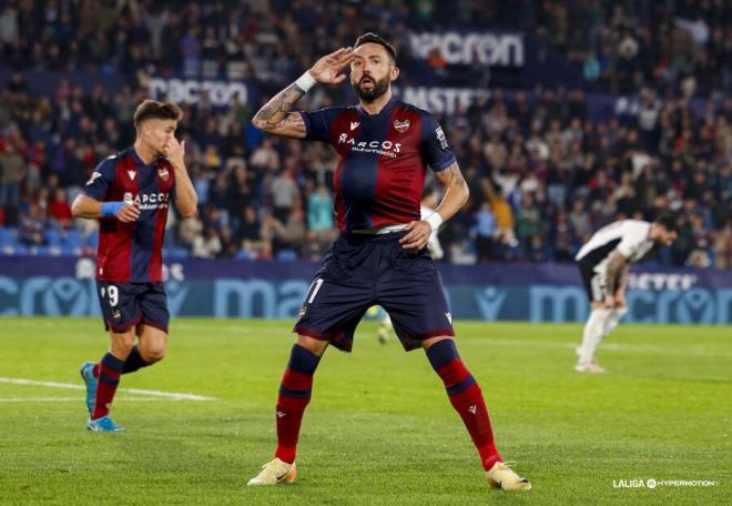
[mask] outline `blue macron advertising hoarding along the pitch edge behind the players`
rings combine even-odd
[[[311,262],[166,263],[173,316],[294,318],[317,269]],[[456,320],[578,322],[589,304],[573,265],[440,264]],[[100,314],[91,259],[0,257],[0,315]],[[626,321],[732,323],[732,272],[649,270],[629,281]]]

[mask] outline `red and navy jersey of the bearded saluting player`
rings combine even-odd
[[[392,98],[378,114],[360,105],[301,112],[306,140],[338,153],[336,224],[353,232],[419,220],[427,168],[447,169],[455,154],[427,111]]]

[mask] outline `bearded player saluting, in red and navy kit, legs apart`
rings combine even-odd
[[[316,83],[343,82],[347,65],[358,105],[292,112]],[[455,347],[441,281],[425,247],[440,223],[465,204],[468,186],[431,114],[392,97],[398,75],[394,48],[366,33],[355,49],[321,58],[252,120],[267,133],[333,145],[339,158],[334,184],[340,236],[316,273],[294,327],[297,338],[277,397],[274,459],[250,485],[295,479],[301,422],[321,356],[328,344],[350,351],[362,316],[380,305],[405,350],[425,348],[480,454],[488,483],[505,489],[531,487],[496,449],[482,394]],[[445,196],[437,211],[421,220],[427,166]]]

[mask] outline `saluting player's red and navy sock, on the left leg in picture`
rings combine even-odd
[[[295,462],[297,438],[305,406],[311,402],[313,374],[321,357],[295,344],[289,353],[289,363],[282,376],[277,396],[277,448],[275,457],[288,464]]]

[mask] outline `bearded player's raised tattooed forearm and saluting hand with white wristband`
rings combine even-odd
[[[346,79],[343,69],[346,68],[356,54],[350,48],[340,48],[337,51],[321,58],[297,81],[274,95],[252,119],[252,124],[258,130],[274,135],[293,139],[305,139],[307,130],[298,112],[292,112],[293,105],[316,82],[321,84],[338,84]]]

